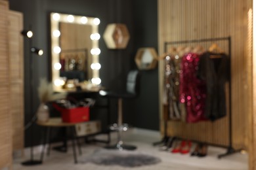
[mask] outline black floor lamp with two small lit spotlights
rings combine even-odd
[[[39,49],[39,48],[36,48],[36,47],[33,47],[32,46],[32,37],[33,37],[33,32],[28,30],[24,30],[21,32],[22,35],[24,35],[24,37],[28,38],[29,39],[29,48],[30,48],[30,84],[29,84],[29,89],[32,91],[32,88],[33,88],[33,54],[37,54],[38,56],[41,56],[43,55],[43,50]],[[30,113],[33,113],[33,93],[30,92]],[[39,165],[42,163],[41,160],[34,160],[33,159],[33,122],[34,122],[34,118],[32,118],[32,120],[30,121],[30,160],[28,161],[24,161],[22,162],[22,165]],[[26,130],[26,128],[25,128]]]

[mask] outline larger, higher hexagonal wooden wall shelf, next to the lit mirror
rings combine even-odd
[[[125,24],[108,24],[103,38],[108,48],[123,49],[126,48],[130,35]]]

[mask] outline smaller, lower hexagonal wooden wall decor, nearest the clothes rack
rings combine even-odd
[[[158,63],[158,54],[155,48],[139,48],[135,56],[138,69],[154,69]]]

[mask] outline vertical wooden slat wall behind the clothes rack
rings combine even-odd
[[[247,3],[243,0],[159,0],[159,54],[164,54],[164,42],[228,37],[232,39],[232,142],[235,148],[247,148],[250,99],[247,66]],[[216,41],[228,53],[226,42]],[[213,42],[203,43],[205,48]],[[184,46],[197,44],[184,44]],[[170,46],[168,46],[169,48]],[[163,61],[159,62],[160,112],[163,112]],[[160,119],[162,120],[162,115]],[[216,122],[186,124],[168,122],[168,135],[228,145],[228,116]],[[163,132],[163,121],[161,121]]]

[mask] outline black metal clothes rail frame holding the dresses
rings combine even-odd
[[[220,37],[220,38],[212,38],[212,39],[194,39],[189,41],[171,41],[171,42],[165,42],[164,43],[164,51],[167,52],[167,46],[173,45],[173,44],[188,44],[188,43],[196,43],[196,42],[214,42],[214,41],[228,41],[228,56],[229,56],[229,66],[231,66],[231,37]],[[231,67],[230,67],[230,78],[229,78],[229,119],[228,119],[228,147],[225,154],[220,154],[218,158],[222,158],[224,156],[228,156],[230,154],[234,154],[236,152],[240,152],[240,150],[235,150],[232,146],[232,105],[231,105]],[[167,128],[167,122],[165,122],[165,127]],[[167,129],[164,129],[165,131],[165,137],[163,137],[163,141],[167,141],[169,137],[167,137]],[[170,141],[170,140],[169,140]],[[212,144],[214,145],[214,144]]]

